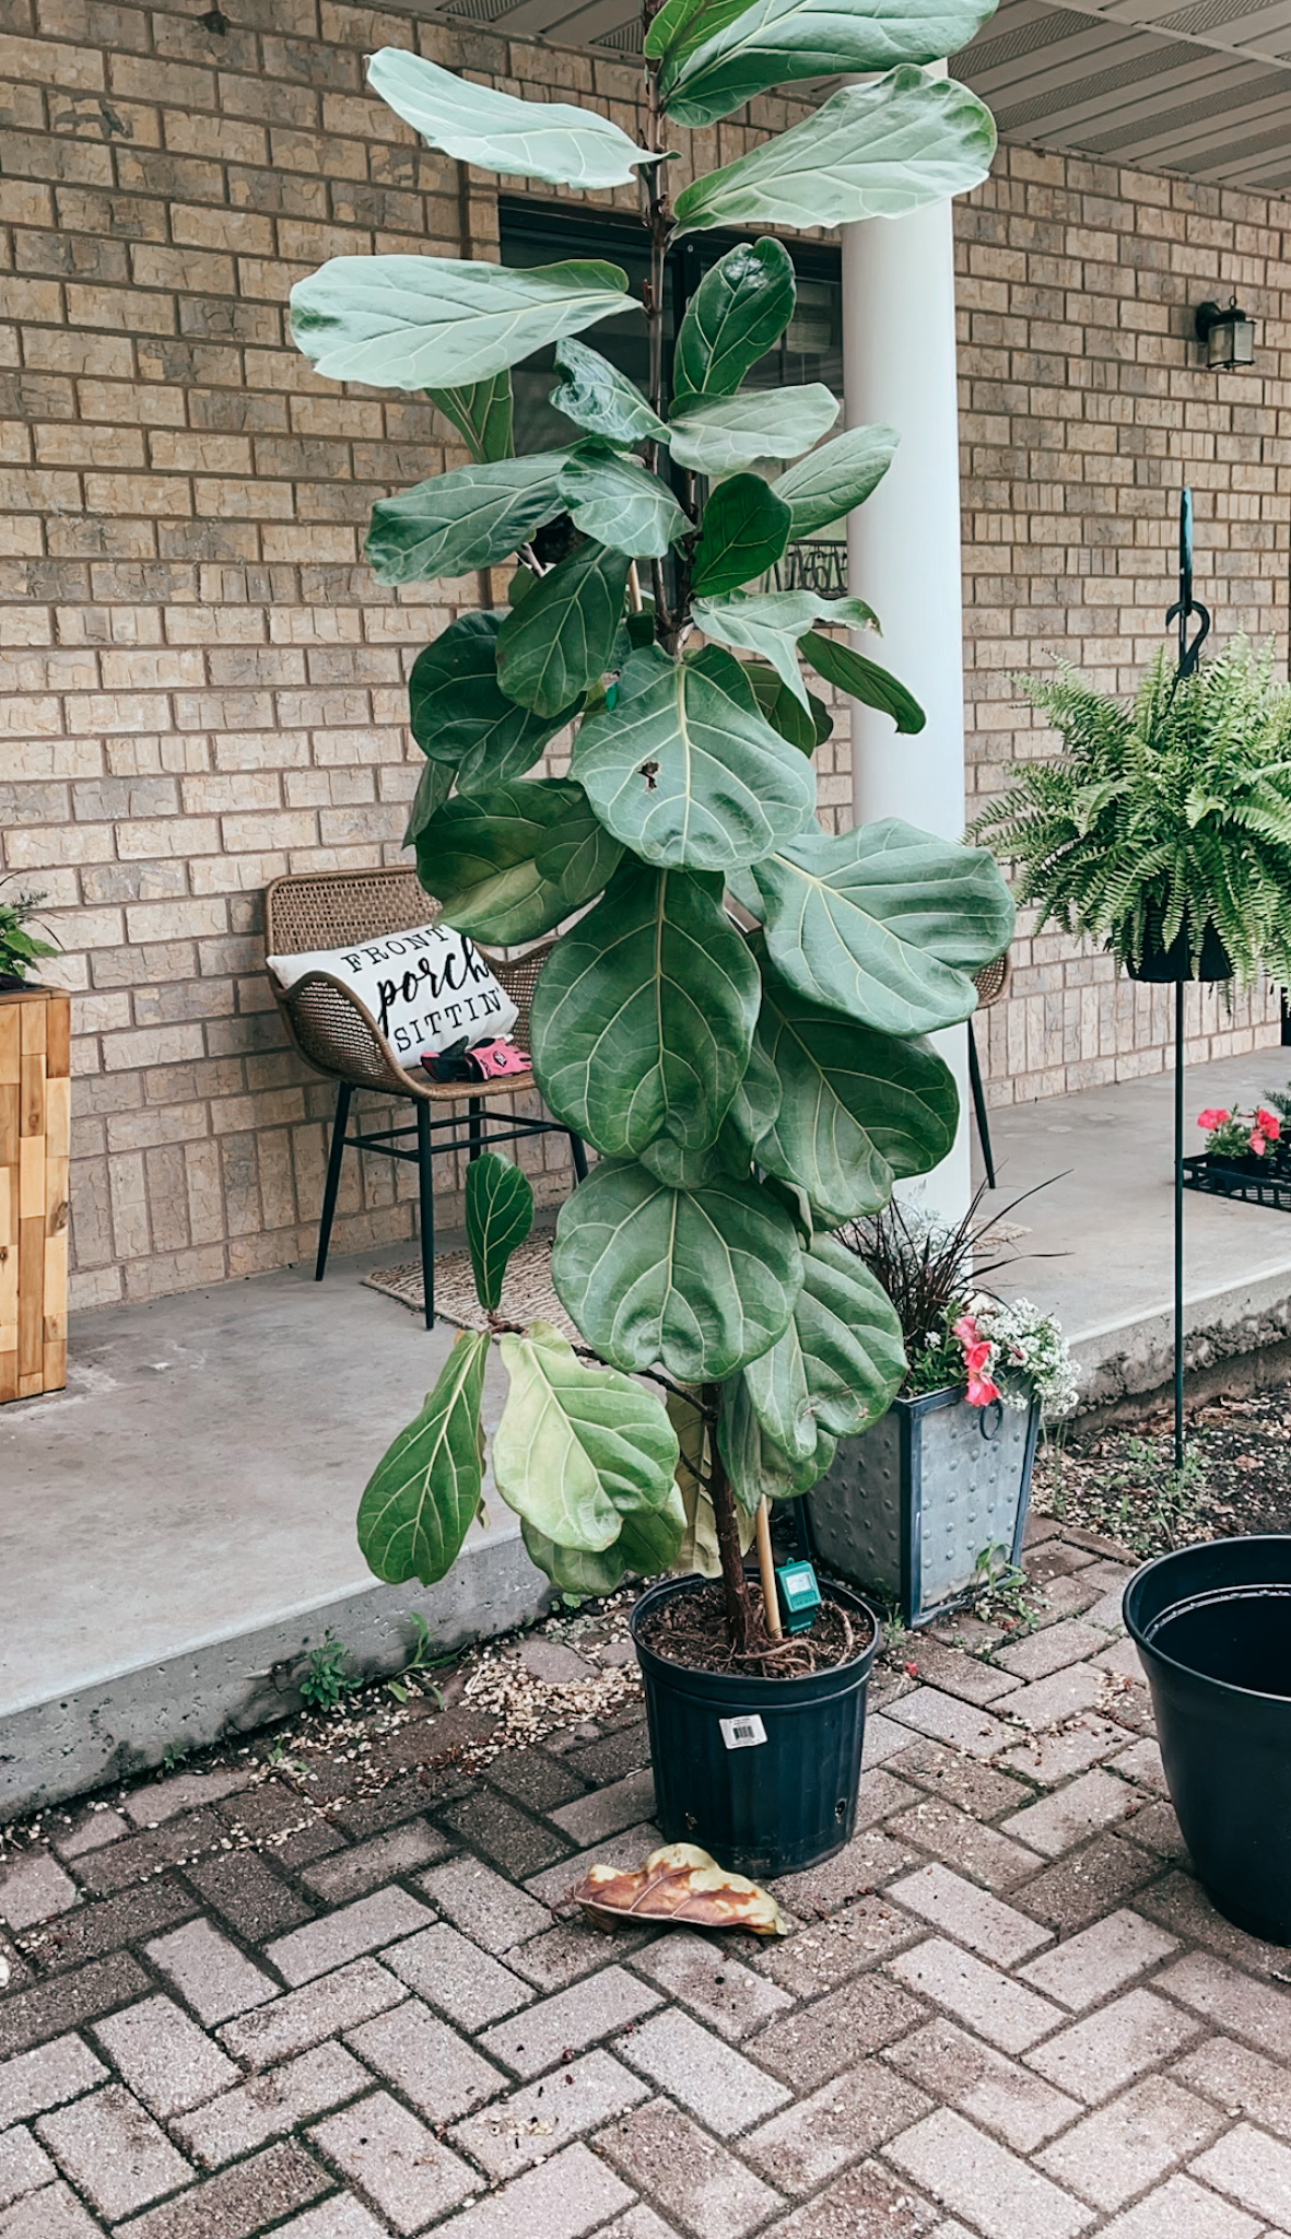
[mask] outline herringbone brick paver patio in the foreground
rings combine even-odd
[[[324,1816],[251,1767],[51,1814],[0,1876],[0,2239],[1291,2232],[1291,1957],[1190,1879],[1114,1549],[1029,1567],[1029,1639],[882,1675],[772,1946],[568,1914],[656,1840],[635,1708],[430,1787],[407,1726]]]

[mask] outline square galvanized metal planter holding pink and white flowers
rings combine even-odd
[[[805,1496],[821,1563],[931,1623],[980,1583],[987,1547],[1020,1558],[1038,1428],[1038,1404],[978,1408],[962,1388],[893,1399]]]

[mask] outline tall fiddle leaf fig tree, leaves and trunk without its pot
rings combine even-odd
[[[568,925],[537,981],[533,1064],[548,1111],[597,1153],[553,1249],[577,1343],[503,1319],[530,1189],[492,1151],[470,1164],[486,1328],[456,1339],[362,1496],[380,1578],[430,1585],[454,1563],[483,1493],[494,1359],[492,1480],[535,1563],[577,1594],[624,1572],[720,1572],[732,1652],[756,1664],[756,1511],[814,1484],[897,1390],[897,1319],[830,1229],[946,1155],[955,1084],[924,1037],[973,1010],[1011,902],[980,849],[817,819],[830,714],[803,661],[886,710],[904,752],[924,716],[830,636],[875,625],[861,598],[776,589],[774,569],[864,504],[897,432],[839,432],[821,383],[750,376],[794,316],[794,264],[765,226],[897,217],[987,175],[989,112],[924,65],[989,9],[647,0],[642,146],[593,110],[416,54],[369,63],[389,107],[461,163],[571,188],[635,179],[651,266],[642,302],[595,257],[333,257],[291,293],[320,374],[427,394],[468,452],[376,504],[378,582],[515,566],[506,607],[459,616],[412,669],[427,761],[407,844],[477,940]],[[790,78],[873,72],[669,199],[673,128]],[[667,249],[712,226],[750,237],[712,262],[669,363]],[[649,394],[586,340],[624,311],[647,322]],[[510,367],[546,345],[568,434],[517,457]],[[526,775],[571,725],[568,775]]]

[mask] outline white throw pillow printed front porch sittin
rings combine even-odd
[[[331,972],[367,1005],[394,1055],[414,1066],[423,1050],[447,1050],[465,1037],[501,1041],[519,1012],[465,934],[452,925],[412,925],[380,940],[351,940],[311,956],[271,956],[284,987],[307,972]]]

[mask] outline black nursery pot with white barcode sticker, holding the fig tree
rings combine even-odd
[[[705,1578],[662,1578],[631,1614],[640,1657],[656,1820],[667,1843],[698,1843],[718,1865],[765,1881],[830,1858],[857,1825],[866,1688],[879,1639],[868,1603],[846,1585],[821,1592],[868,1626],[852,1664],[801,1679],[754,1679],[671,1664],[642,1621]]]

